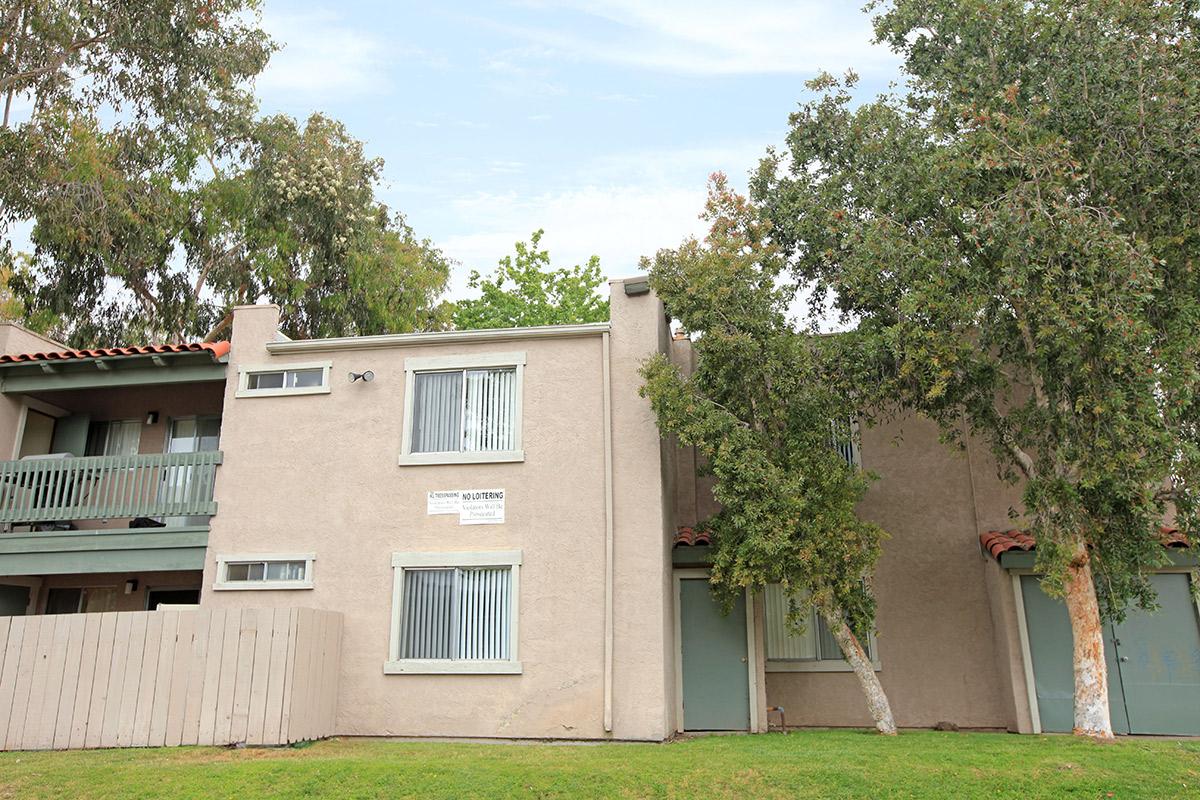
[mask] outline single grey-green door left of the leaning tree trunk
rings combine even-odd
[[[721,614],[706,578],[679,581],[684,730],[749,730],[746,606]]]

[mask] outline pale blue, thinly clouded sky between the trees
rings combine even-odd
[[[544,228],[556,266],[610,277],[701,235],[708,175],[744,187],[821,70],[898,78],[862,0],[264,0],[282,46],[264,113],[342,120],[384,160],[379,198],[490,271]]]

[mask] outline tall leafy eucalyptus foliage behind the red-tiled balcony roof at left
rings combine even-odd
[[[374,198],[323,115],[257,119],[257,0],[0,12],[0,251],[26,323],[74,345],[214,338],[236,303],[293,337],[439,327],[449,261]],[[10,115],[13,100],[28,109]]]

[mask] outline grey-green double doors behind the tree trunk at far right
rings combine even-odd
[[[1200,624],[1188,577],[1162,573],[1152,582],[1157,612],[1130,609],[1121,625],[1104,626],[1112,732],[1200,734]],[[1042,729],[1069,733],[1074,674],[1067,608],[1042,591],[1037,576],[1021,576],[1021,599]]]

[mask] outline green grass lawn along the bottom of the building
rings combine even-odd
[[[1200,798],[1200,741],[860,730],[0,753],[0,798]]]

